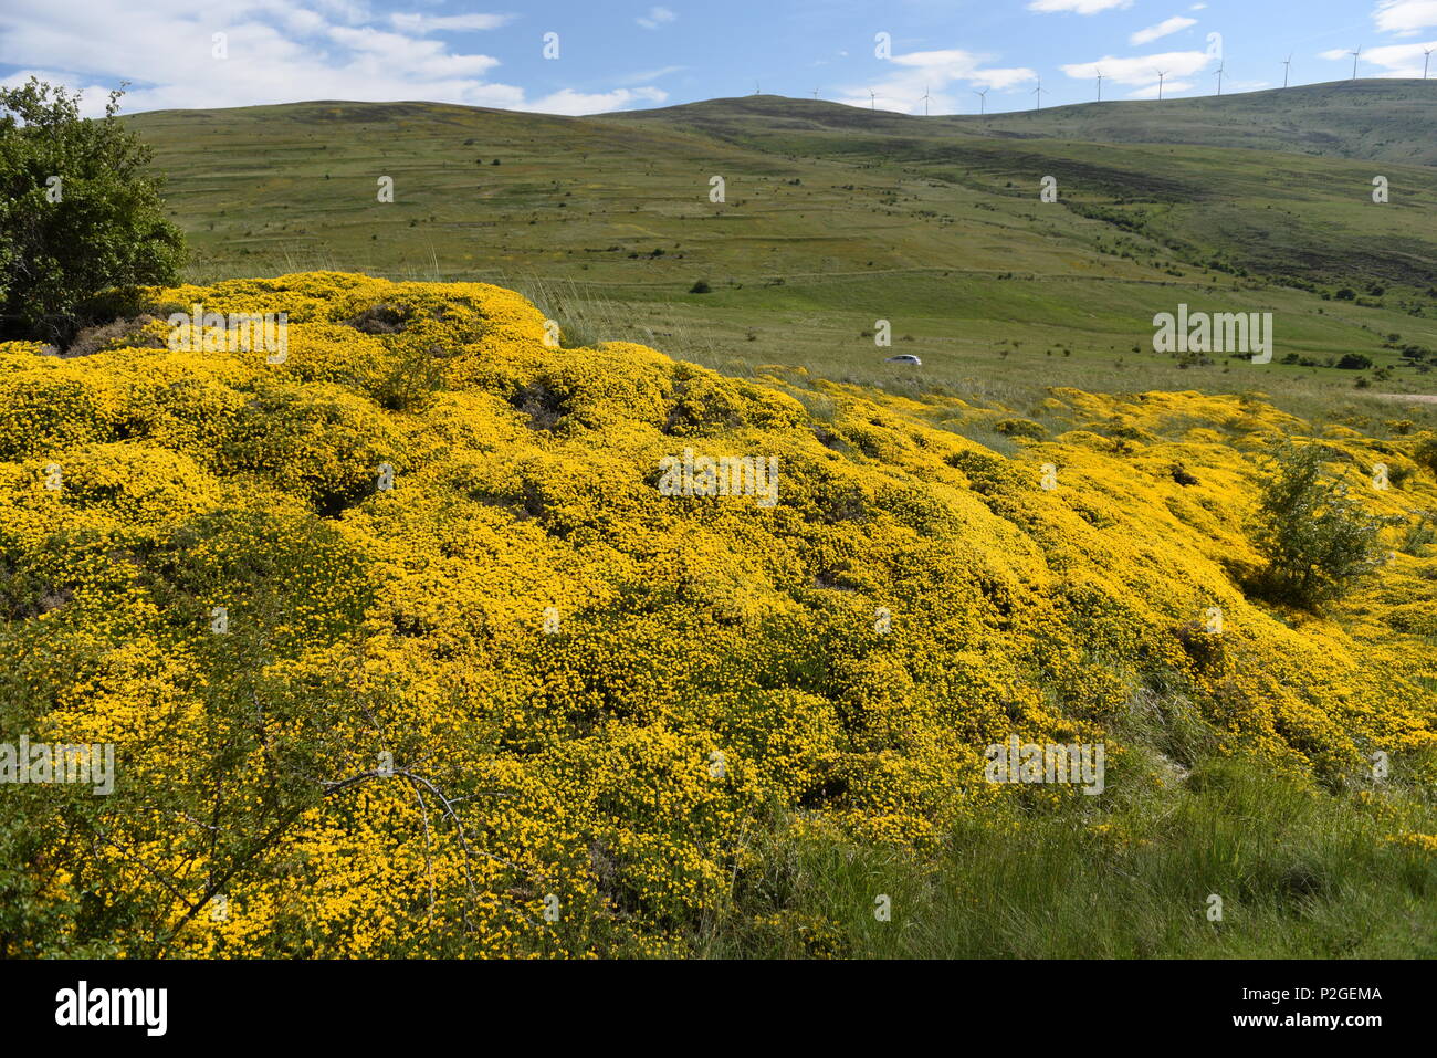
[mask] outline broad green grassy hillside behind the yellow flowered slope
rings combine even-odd
[[[1290,121],[1348,128],[1332,115],[1359,111],[1374,137],[1420,157],[1407,115],[1426,86],[1384,82],[1344,109],[1358,98],[1345,91],[1293,89],[1283,98],[1309,101],[1292,114],[1311,122]],[[1259,121],[1257,96],[1134,106],[1207,142],[1214,115]],[[1033,139],[773,98],[583,119],[296,104],[132,121],[170,175],[201,280],[296,267],[483,279],[529,293],[573,341],[650,342],[729,372],[782,364],[940,388],[1027,414],[1059,384],[1260,391],[1375,431],[1431,421],[1423,405],[1355,390],[1361,377],[1367,392],[1431,392],[1437,172],[1423,165],[1384,160],[1392,201],[1375,206],[1372,162],[1226,145],[1250,137]],[[381,175],[392,204],[375,200]],[[713,175],[723,204],[708,198]],[[1058,204],[1039,201],[1043,175]],[[688,293],[698,280],[713,293]],[[1178,303],[1273,312],[1275,362],[1154,354],[1152,316]],[[878,319],[891,349],[874,345]],[[924,367],[895,371],[891,352]],[[1377,374],[1332,367],[1346,354]]]

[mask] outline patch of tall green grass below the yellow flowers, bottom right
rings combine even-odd
[[[1401,798],[1401,795],[1398,795]],[[957,828],[933,861],[785,841],[734,894],[710,956],[1318,959],[1437,956],[1437,864],[1352,795],[1211,758],[1102,811]],[[1102,798],[1106,801],[1106,798]],[[1408,801],[1431,832],[1433,805]],[[1019,822],[1022,829],[1004,829]],[[1106,832],[1094,828],[1105,825]],[[875,917],[888,896],[891,919]],[[1211,921],[1210,897],[1221,898]]]

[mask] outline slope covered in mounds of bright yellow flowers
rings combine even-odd
[[[1394,536],[1322,617],[1239,586],[1306,431],[1260,400],[1055,391],[1048,437],[556,348],[484,285],[147,298],[124,348],[0,345],[4,740],[116,746],[109,796],[0,798],[16,952],[680,952],[759,832],[921,850],[1010,794],[1010,733],[1137,781],[1155,683],[1328,783],[1431,759],[1431,559]],[[171,351],[193,305],[287,313],[285,355]],[[1321,443],[1392,469],[1374,512],[1437,509],[1420,438]],[[749,459],[740,494],[665,494],[685,457]]]

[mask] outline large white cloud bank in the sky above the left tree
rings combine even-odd
[[[125,112],[253,106],[308,99],[391,102],[424,99],[589,112],[667,96],[654,88],[555,92],[529,99],[517,85],[490,80],[499,59],[451,46],[451,32],[494,29],[507,16],[391,16],[349,0],[147,0],[109,4],[46,0],[0,9],[0,65],[83,89],[83,111],[102,114],[121,80]],[[211,34],[227,36],[227,59],[211,56]],[[43,72],[43,73],[42,73]],[[22,83],[24,73],[6,78]],[[629,85],[637,82],[629,80]]]

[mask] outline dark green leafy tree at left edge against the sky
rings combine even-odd
[[[152,151],[79,92],[0,89],[0,335],[66,342],[101,290],[172,283],[184,239],[164,218]]]

